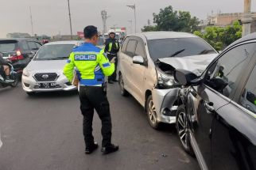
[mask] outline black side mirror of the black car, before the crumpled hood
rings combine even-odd
[[[188,70],[181,70],[178,69],[175,71],[174,74],[175,81],[180,83],[180,85],[188,86],[188,85],[200,85],[203,79],[197,77],[196,74],[188,71]]]

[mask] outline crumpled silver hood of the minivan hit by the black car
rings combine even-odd
[[[217,55],[218,54],[192,55],[158,60],[173,66],[175,69],[184,69],[196,75],[200,75]]]

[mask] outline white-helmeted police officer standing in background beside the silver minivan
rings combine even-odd
[[[118,60],[117,60],[117,57],[118,57],[118,51],[119,51],[119,48],[120,48],[120,44],[118,42],[118,40],[116,40],[114,37],[115,37],[115,32],[114,30],[110,30],[108,32],[108,35],[110,36],[109,39],[106,40],[105,42],[105,53],[107,53],[107,58],[109,60],[115,58],[116,59],[116,62],[115,62],[115,70],[114,70],[114,73],[108,77],[108,83],[110,84],[113,84],[113,81],[116,82],[116,68],[117,68],[117,63],[118,63]]]

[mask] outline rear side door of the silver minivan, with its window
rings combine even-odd
[[[134,95],[134,72],[132,70],[133,57],[135,54],[135,49],[138,41],[134,37],[130,37],[127,43],[126,52],[123,54],[122,58],[122,77],[126,85],[126,90]]]

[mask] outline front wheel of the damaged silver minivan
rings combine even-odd
[[[153,104],[152,95],[149,96],[146,107],[146,113],[148,115],[150,126],[153,127],[153,129],[158,129],[159,123],[157,122],[157,111],[155,105]]]

